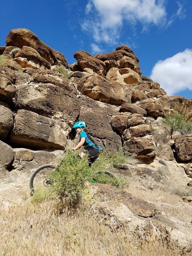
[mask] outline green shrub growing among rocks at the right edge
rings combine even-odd
[[[186,121],[185,117],[179,113],[170,114],[163,121],[171,129],[171,132],[179,131],[181,134],[192,133],[192,122]]]

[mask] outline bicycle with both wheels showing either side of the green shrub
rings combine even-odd
[[[50,178],[52,176],[54,176],[54,173],[55,173],[55,171],[57,171],[58,168],[59,168],[59,166],[55,165],[55,164],[45,164],[45,165],[38,167],[32,173],[32,176],[29,180],[29,187],[30,187],[31,195],[33,195],[35,190],[41,185],[43,185],[49,189],[49,187],[51,186]],[[108,175],[114,179],[114,181],[117,184],[117,187],[119,187],[118,180],[112,172],[103,170],[103,171],[96,171],[91,176],[88,176],[88,172],[86,172],[86,174],[87,174],[86,180],[90,180],[93,183],[97,183],[96,180],[93,180],[95,176],[101,175],[101,174]]]

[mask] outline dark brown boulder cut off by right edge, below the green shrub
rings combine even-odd
[[[192,134],[178,136],[175,139],[175,151],[178,160],[192,160]]]

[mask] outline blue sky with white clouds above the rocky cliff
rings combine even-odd
[[[72,64],[78,50],[126,44],[144,76],[192,98],[192,0],[4,0],[1,10],[0,46],[11,29],[26,28]]]

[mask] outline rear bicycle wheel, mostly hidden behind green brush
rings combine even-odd
[[[91,178],[99,183],[109,184],[119,188],[119,181],[112,172],[109,171],[97,171],[91,175]]]

